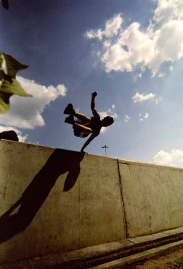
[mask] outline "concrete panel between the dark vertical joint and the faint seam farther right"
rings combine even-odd
[[[123,176],[124,166],[127,165],[120,164],[128,237],[168,229],[170,223],[158,168],[128,165],[126,177]]]

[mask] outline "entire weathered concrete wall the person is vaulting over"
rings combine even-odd
[[[183,225],[183,169],[0,141],[0,263]]]

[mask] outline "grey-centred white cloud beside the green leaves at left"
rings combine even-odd
[[[52,85],[45,87],[34,80],[20,76],[16,78],[24,90],[33,97],[13,95],[10,98],[10,109],[6,114],[1,114],[0,123],[28,129],[44,126],[45,122],[41,113],[50,102],[55,101],[59,96],[66,96],[67,88],[63,84],[57,87]]]

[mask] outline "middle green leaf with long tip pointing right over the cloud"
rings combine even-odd
[[[1,91],[3,91],[6,94],[11,94],[11,95],[17,94],[24,97],[32,97],[32,95],[27,94],[24,91],[24,89],[22,88],[22,86],[16,79],[11,78],[10,76],[6,74],[0,84],[0,92]]]

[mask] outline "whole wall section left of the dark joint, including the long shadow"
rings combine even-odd
[[[0,141],[0,263],[125,238],[117,160]]]

